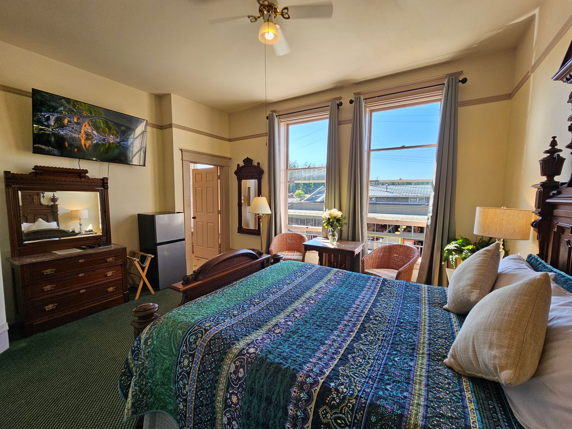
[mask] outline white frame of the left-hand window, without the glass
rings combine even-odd
[[[313,109],[310,112],[284,114],[279,117],[280,136],[279,145],[281,157],[280,163],[280,212],[282,220],[282,230],[295,229],[297,231],[320,232],[321,227],[307,227],[302,225],[288,224],[288,172],[291,170],[309,170],[309,169],[325,169],[323,167],[307,167],[307,168],[288,168],[289,152],[288,139],[289,127],[291,125],[307,124],[308,122],[323,121],[329,119],[329,106]]]

